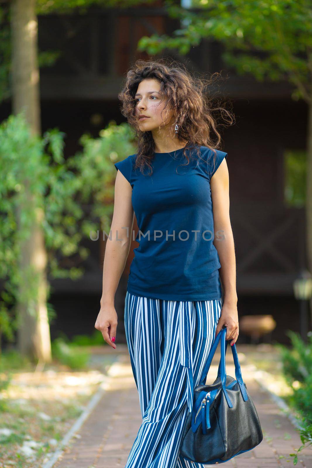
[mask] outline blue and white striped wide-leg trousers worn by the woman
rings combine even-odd
[[[223,297],[149,299],[126,292],[124,326],[143,422],[125,468],[204,468],[179,455]]]

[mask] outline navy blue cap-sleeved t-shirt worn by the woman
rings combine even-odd
[[[214,163],[212,150],[201,146],[202,159],[194,150],[181,166],[183,149],[154,153],[151,176],[148,168],[134,169],[136,154],[115,163],[131,184],[139,228],[127,291],[152,299],[219,299],[210,178],[227,153],[216,150]]]

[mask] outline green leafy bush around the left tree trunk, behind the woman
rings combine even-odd
[[[0,124],[0,338],[14,340],[18,327],[14,305],[17,300],[31,304],[37,293],[31,265],[27,278],[19,270],[22,241],[31,234],[35,217],[33,208],[24,203],[26,185],[35,206],[44,210],[49,278],[80,278],[83,267],[75,265],[89,254],[81,245],[83,239],[98,230],[109,234],[116,178],[113,163],[134,152],[133,133],[128,124],[112,121],[98,138],[85,134],[80,143],[82,150],[65,161],[64,133],[58,129],[42,137],[32,135],[22,114]],[[64,258],[72,259],[73,266],[63,267]],[[25,282],[27,297],[21,298],[19,286]]]

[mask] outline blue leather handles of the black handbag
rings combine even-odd
[[[230,340],[225,340],[226,331],[227,331],[226,328],[223,328],[222,330],[220,330],[218,335],[216,336],[212,346],[211,346],[211,349],[210,349],[210,352],[209,352],[205,367],[203,369],[200,384],[205,385],[205,382],[206,382],[206,379],[207,379],[207,374],[208,374],[208,371],[209,371],[209,368],[210,368],[210,365],[211,365],[212,358],[213,358],[213,356],[214,356],[214,354],[215,354],[215,352],[217,350],[219,341],[221,340],[221,344],[220,344],[220,346],[221,346],[221,358],[220,358],[220,363],[219,363],[218,375],[221,374],[222,391],[223,391],[223,393],[225,395],[225,398],[226,398],[226,401],[227,401],[229,407],[232,408],[232,402],[231,402],[231,400],[229,398],[229,395],[228,395],[228,393],[226,391],[226,388],[225,388],[225,385],[226,385],[225,353],[226,353],[226,348],[227,348],[228,341],[230,341]],[[241,376],[239,358],[238,358],[238,355],[237,355],[237,350],[236,350],[235,343],[233,344],[233,346],[231,346],[231,348],[232,348],[232,355],[233,355],[234,364],[235,364],[235,377],[236,377],[236,380],[237,380],[237,382],[239,384],[240,393],[241,393],[241,395],[243,397],[243,400],[246,402],[248,400],[248,395],[247,395],[246,388],[245,388],[245,385],[244,385],[244,382],[243,382],[243,379],[242,379],[242,376]]]

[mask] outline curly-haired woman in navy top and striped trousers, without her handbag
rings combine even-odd
[[[181,66],[138,60],[119,98],[137,130],[138,151],[115,164],[112,239],[95,328],[116,348],[114,298],[135,213],[139,247],[124,324],[143,422],[126,468],[203,468],[179,455],[193,389],[218,332],[226,327],[231,345],[239,335],[227,153],[213,151],[220,134],[203,82]],[[228,111],[216,110],[232,123]]]

